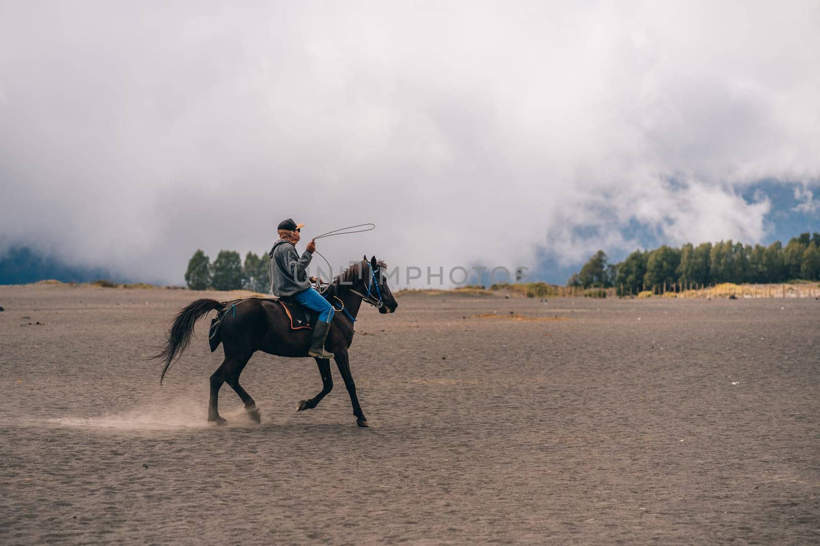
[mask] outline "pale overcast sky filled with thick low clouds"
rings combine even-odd
[[[755,243],[749,185],[818,211],[818,90],[820,2],[2,0],[0,247],[181,283],[287,217],[378,225],[335,265]]]

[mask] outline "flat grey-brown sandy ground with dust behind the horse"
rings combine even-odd
[[[820,541],[813,299],[400,298],[358,322],[361,429],[260,353],[262,424],[225,385],[207,425],[207,319],[161,388],[202,295],[0,287],[0,543]]]

